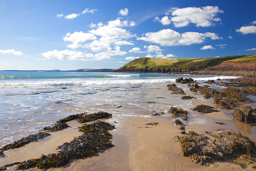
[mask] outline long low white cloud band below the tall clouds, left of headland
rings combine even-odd
[[[120,51],[120,47],[116,46],[115,50],[109,48],[105,52],[100,52],[98,54],[85,54],[83,52],[76,52],[72,50],[54,50],[42,53],[41,55],[47,59],[54,59],[54,60],[103,60],[103,59],[111,59],[111,56],[115,55],[125,55],[127,52]]]

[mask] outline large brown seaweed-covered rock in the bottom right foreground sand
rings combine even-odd
[[[250,157],[256,156],[255,142],[241,133],[231,130],[218,130],[211,132],[211,140],[208,136],[189,131],[188,136],[178,138],[183,155],[190,157],[192,162],[200,163],[212,162],[214,160],[226,161],[233,154],[247,154]],[[217,141],[216,141],[217,140]]]

